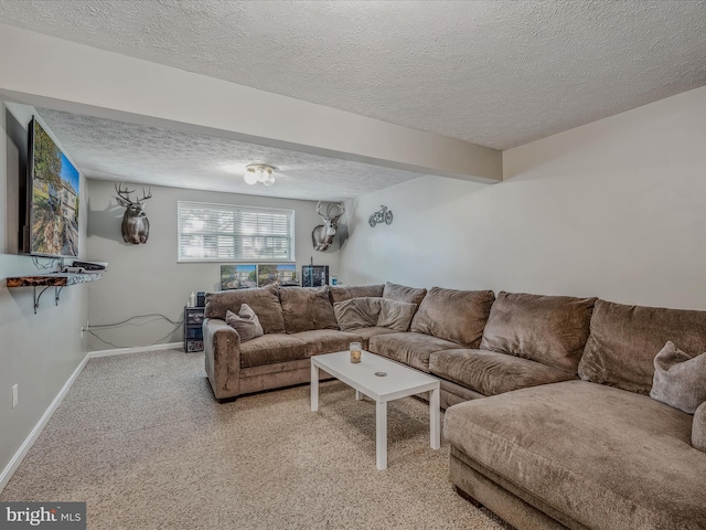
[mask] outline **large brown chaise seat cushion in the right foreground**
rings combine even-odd
[[[480,466],[602,529],[704,529],[706,458],[691,431],[684,412],[585,381],[460,403],[445,420]]]

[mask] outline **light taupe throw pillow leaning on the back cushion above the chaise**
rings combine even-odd
[[[706,401],[706,352],[692,357],[667,341],[654,358],[650,398],[694,414]]]

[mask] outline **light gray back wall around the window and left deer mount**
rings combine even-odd
[[[133,188],[130,184],[130,189]],[[92,326],[149,314],[162,314],[176,321],[192,292],[221,289],[221,263],[176,263],[176,202],[180,200],[295,210],[298,274],[312,257],[315,265],[329,265],[331,275],[339,273],[340,235],[325,252],[314,251],[311,244],[311,231],[321,224],[315,202],[152,187],[153,197],[145,203],[150,221],[149,240],[143,245],[128,245],[120,233],[125,209],[117,204],[115,195],[113,181],[88,179],[88,258],[109,264],[104,279],[90,286]],[[341,222],[345,222],[344,219]],[[344,234],[345,227],[340,229]],[[182,328],[160,317],[139,318],[124,326],[93,331],[118,347],[182,340]],[[88,343],[92,350],[114,348],[93,336]]]

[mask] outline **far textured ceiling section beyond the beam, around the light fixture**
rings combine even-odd
[[[79,169],[104,180],[289,199],[341,201],[418,173],[210,136],[79,116],[46,108],[40,117]],[[248,186],[247,163],[275,163],[276,183]]]

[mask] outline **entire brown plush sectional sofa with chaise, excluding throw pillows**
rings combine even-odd
[[[362,297],[417,304],[409,330],[334,329],[333,305]],[[223,321],[240,304],[264,315],[245,343]],[[516,528],[706,529],[706,403],[648,395],[666,341],[706,351],[706,311],[389,283],[207,295],[220,400],[308,382],[309,357],[353,340],[440,379],[451,481]]]

